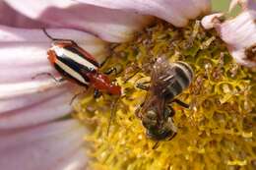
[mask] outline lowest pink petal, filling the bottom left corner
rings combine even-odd
[[[84,126],[75,120],[31,129],[0,132],[0,167],[4,170],[79,170],[87,164]],[[83,155],[84,152],[84,155]]]

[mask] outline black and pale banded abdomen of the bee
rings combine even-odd
[[[171,84],[167,85],[164,95],[169,99],[174,98],[187,88],[193,79],[192,68],[184,62],[173,63],[174,75],[171,78]]]

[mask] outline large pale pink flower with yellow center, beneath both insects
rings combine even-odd
[[[246,9],[249,7],[244,5]],[[0,58],[0,166],[4,169],[84,169],[88,167],[88,156],[96,158],[91,163],[95,169],[112,166],[117,169],[170,169],[187,165],[196,169],[207,167],[204,164],[197,165],[196,159],[200,156],[209,164],[211,158],[215,160],[213,162],[218,161],[218,154],[213,151],[211,144],[222,149],[227,147],[224,156],[220,158],[220,164],[226,160],[224,163],[231,166],[253,165],[255,160],[248,150],[255,140],[249,126],[252,118],[247,116],[255,107],[255,96],[251,94],[255,88],[253,80],[250,80],[252,73],[239,68],[230,60],[223,42],[215,33],[205,32],[198,22],[189,22],[199,15],[210,13],[209,0],[6,0],[0,2],[0,9],[0,54],[3,56]],[[233,19],[233,22],[236,20]],[[157,24],[151,26],[156,21]],[[228,21],[224,24],[218,21],[218,26],[224,30],[231,28],[230,25]],[[217,24],[209,22],[204,26],[216,28]],[[106,135],[108,113],[112,111],[109,108],[111,96],[105,95],[97,100],[92,95],[85,96],[78,103],[79,109],[75,105],[78,113],[70,116],[74,111],[70,101],[83,88],[69,82],[56,83],[48,77],[36,77],[43,72],[51,73],[56,78],[60,76],[46,59],[51,40],[42,28],[46,28],[53,37],[75,40],[96,56],[100,63],[111,56],[107,61],[108,66],[119,64],[124,68],[116,80],[124,89],[130,88],[132,91],[126,93],[127,96],[117,105],[116,120],[109,131],[111,139]],[[147,32],[140,31],[143,28],[148,28]],[[229,45],[226,34],[221,33],[221,37]],[[237,34],[237,38],[242,37],[243,34]],[[247,45],[251,46],[251,42],[255,42],[254,36],[250,39],[250,43],[244,39],[238,41],[235,48],[228,46],[230,54],[238,62],[239,58],[243,62],[245,57],[236,57],[235,53],[240,52],[241,47],[247,48]],[[254,48],[248,50],[250,53]],[[162,142],[160,148],[151,151],[155,143],[147,140],[140,120],[134,115],[145,92],[135,90],[134,79],[125,83],[122,78],[130,75],[128,71],[125,75],[125,67],[129,66],[127,61],[135,62],[136,57],[139,57],[141,59],[137,63],[142,65],[142,59],[148,59],[146,56],[160,53],[173,57],[173,60],[185,60],[196,71],[195,81],[199,87],[192,85],[189,88],[192,92],[185,91],[181,96],[192,102],[192,117],[196,126],[188,125],[187,111],[175,107],[178,111],[174,119],[180,125],[179,135],[173,142]],[[147,74],[140,72],[140,75],[143,77]],[[237,79],[241,81],[237,82]],[[205,89],[201,89],[200,85]],[[216,94],[209,92],[212,90]],[[189,94],[193,97],[189,98]],[[218,106],[216,103],[221,103],[226,110],[231,108],[230,116],[220,108],[215,113],[214,109]],[[214,107],[207,108],[211,104]],[[209,113],[204,113],[206,108]],[[223,112],[224,115],[221,114]],[[242,114],[244,119],[241,118]],[[72,120],[74,117],[77,120]],[[245,130],[237,118],[241,118],[245,122],[244,126],[248,126]],[[231,121],[229,123],[226,120]],[[91,136],[88,135],[90,126],[86,123],[95,126]],[[228,123],[237,125],[236,129],[226,130],[224,126],[228,127]],[[84,141],[85,136],[87,142]],[[207,138],[209,136],[216,139]],[[225,140],[224,136],[232,140]],[[88,153],[88,141],[93,142],[93,153]],[[217,142],[224,142],[224,146]],[[233,145],[235,142],[242,146],[248,143],[249,146],[242,152]],[[232,148],[242,152],[241,155],[233,156]],[[170,149],[175,154],[167,154]],[[208,158],[205,153],[213,153],[213,156]],[[230,159],[229,153],[233,156]],[[248,154],[247,157],[244,154]],[[160,160],[156,159],[158,155]],[[168,162],[169,158],[173,159],[173,164]],[[17,161],[10,163],[8,160]],[[194,161],[195,164],[187,164],[185,161]]]

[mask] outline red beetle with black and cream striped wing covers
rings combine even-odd
[[[47,55],[49,62],[64,78],[59,81],[66,78],[87,88],[93,85],[96,89],[95,94],[103,91],[121,95],[121,87],[112,84],[107,75],[98,71],[100,65],[88,51],[71,39],[53,38],[45,28],[42,30],[52,40]]]

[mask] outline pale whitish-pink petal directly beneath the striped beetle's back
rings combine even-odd
[[[47,31],[56,38],[75,40],[99,62],[108,55],[107,44],[89,33],[63,28]],[[32,77],[43,72],[56,74],[47,60],[50,43],[41,29],[0,26],[0,83],[32,81]]]

